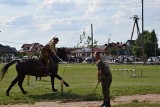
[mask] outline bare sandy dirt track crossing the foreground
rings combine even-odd
[[[111,101],[111,105],[119,105],[130,103],[132,101],[160,103],[160,94],[132,95],[121,96]],[[37,102],[33,105],[16,104],[16,105],[0,105],[0,107],[98,107],[102,101],[81,101],[81,102]]]

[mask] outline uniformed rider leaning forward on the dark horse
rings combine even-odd
[[[56,55],[56,44],[58,43],[58,38],[53,38],[49,43],[47,43],[41,50],[40,50],[40,58],[42,59],[44,66],[45,66],[45,76],[49,75],[49,66],[53,64],[51,59],[51,55]]]

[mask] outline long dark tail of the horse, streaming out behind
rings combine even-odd
[[[13,60],[12,62],[10,62],[10,63],[4,65],[4,67],[1,69],[1,73],[0,73],[0,81],[3,79],[3,77],[4,77],[4,75],[6,74],[8,68],[9,68],[11,65],[13,65],[14,63],[16,63],[16,62],[19,63],[20,61],[19,61],[19,60]]]

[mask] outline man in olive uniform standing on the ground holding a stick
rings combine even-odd
[[[101,59],[100,52],[95,52],[94,56],[98,69],[98,82],[101,82],[102,85],[103,104],[100,107],[111,107],[110,85],[112,83],[112,74],[108,64]]]

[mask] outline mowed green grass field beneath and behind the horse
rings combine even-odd
[[[0,64],[0,68],[4,64]],[[127,65],[110,64],[111,69],[134,69],[136,67],[136,76],[132,77],[134,71],[112,70],[113,82],[111,84],[111,98],[117,96],[133,94],[159,94],[160,93],[160,66],[159,65]],[[16,84],[10,91],[10,96],[5,95],[5,91],[16,77],[15,65],[11,66],[0,81],[0,104],[14,103],[35,103],[40,101],[78,101],[78,100],[102,100],[101,85],[97,84],[97,68],[92,64],[65,64],[59,65],[60,76],[70,84],[70,87],[63,87],[61,93],[61,81],[55,79],[55,88],[57,93],[51,90],[50,77],[44,77],[42,80],[35,81],[35,77],[26,76],[23,87],[29,93],[23,95]],[[141,103],[133,102],[131,105],[141,106]],[[152,104],[146,104],[150,106]],[[156,104],[154,104],[156,105]],[[123,105],[128,106],[128,105]]]

